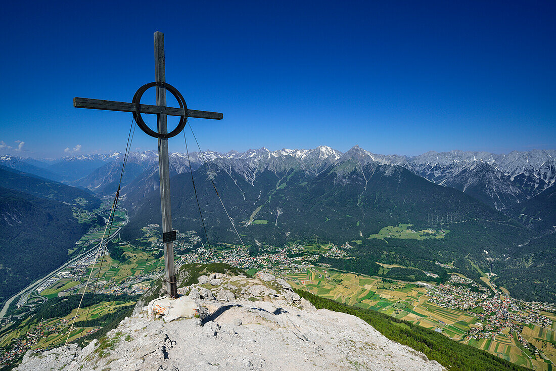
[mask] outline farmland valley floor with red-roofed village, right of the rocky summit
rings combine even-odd
[[[491,296],[465,276],[415,284],[304,267],[284,277],[296,288],[435,330],[527,368],[550,370],[556,363],[554,306],[498,290]]]

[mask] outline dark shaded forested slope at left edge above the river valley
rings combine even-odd
[[[0,187],[0,302],[66,261],[87,229],[63,202]]]

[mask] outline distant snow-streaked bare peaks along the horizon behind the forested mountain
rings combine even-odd
[[[424,177],[435,184],[458,189],[479,199],[496,210],[505,210],[528,200],[554,184],[556,180],[556,151],[532,150],[528,152],[512,151],[509,154],[471,151],[430,151],[418,156],[380,155],[353,147],[347,154],[354,154],[364,161],[373,161],[381,165],[399,165],[416,175]],[[312,150],[269,151],[265,148],[246,152],[230,151],[227,153],[206,151],[191,152],[193,170],[201,164],[215,159],[248,162],[245,169],[246,180],[256,176],[251,174],[253,166],[265,162],[294,161],[307,174],[317,175],[333,162],[340,160],[342,152],[327,146]],[[26,159],[14,156],[0,157],[0,165],[36,174],[47,179],[63,181],[68,184],[86,187],[100,195],[115,191],[113,183],[119,179],[123,155],[119,152],[107,155],[80,155],[66,157],[46,168],[31,165]],[[243,161],[242,161],[243,160]],[[250,160],[250,161],[245,161]],[[132,152],[130,167],[123,181],[125,185],[133,180],[147,181],[146,189],[156,189],[157,181],[150,180],[157,176],[157,154],[153,151]],[[186,154],[170,155],[171,176],[188,171]],[[271,166],[271,165],[270,165]],[[143,174],[141,174],[143,173]]]

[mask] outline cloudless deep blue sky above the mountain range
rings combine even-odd
[[[123,151],[131,113],[73,108],[72,98],[131,101],[154,80],[155,31],[165,33],[166,80],[188,107],[224,112],[222,121],[191,119],[203,150],[555,149],[555,9],[553,1],[8,2],[0,154]],[[183,150],[180,138],[171,151]],[[138,131],[136,148],[156,149],[156,140]]]

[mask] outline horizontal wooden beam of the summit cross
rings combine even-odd
[[[120,112],[135,112],[136,108],[133,103],[127,102],[117,102],[117,101],[105,101],[102,99],[91,99],[91,98],[73,98],[73,107],[77,108],[93,108],[95,110],[108,110],[108,111],[120,111]],[[182,108],[175,107],[165,107],[165,106],[153,106],[153,105],[141,105],[141,113],[164,113],[168,116],[183,116]],[[210,111],[197,111],[197,110],[187,110],[187,117],[193,118],[211,118],[212,120],[222,120],[224,115],[220,112],[210,112]]]

